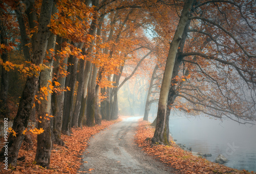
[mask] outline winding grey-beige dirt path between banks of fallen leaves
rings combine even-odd
[[[79,171],[92,173],[173,173],[173,169],[146,155],[134,142],[141,117],[125,118],[90,139]],[[79,172],[80,173],[80,172]]]

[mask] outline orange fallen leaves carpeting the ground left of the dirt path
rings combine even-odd
[[[16,167],[11,167],[8,170],[5,170],[3,163],[0,162],[0,173],[77,173],[77,170],[81,165],[81,155],[88,146],[89,138],[119,121],[121,121],[121,119],[114,121],[102,120],[102,124],[100,126],[83,127],[82,129],[72,128],[72,136],[61,135],[62,140],[66,143],[66,147],[56,144],[53,145],[50,167],[48,169],[36,165],[34,161],[37,146],[36,135],[31,132],[27,132],[32,137],[33,147],[28,150],[26,149],[26,145],[23,143],[18,155],[18,158],[25,156],[25,160],[18,161]],[[4,145],[3,142],[4,139],[0,139],[0,149],[2,149]],[[89,169],[87,172],[90,172],[90,170],[92,169]]]

